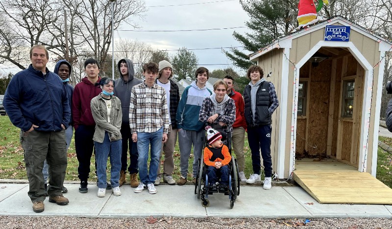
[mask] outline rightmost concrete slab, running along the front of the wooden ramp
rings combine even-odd
[[[384,205],[319,204],[301,187],[283,187],[313,217],[391,217]],[[309,203],[309,204],[307,204]]]

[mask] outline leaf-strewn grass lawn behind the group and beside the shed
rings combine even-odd
[[[24,151],[19,141],[20,129],[13,126],[8,116],[0,116],[0,179],[25,179],[27,180],[25,163],[23,160]],[[379,137],[379,140],[392,146],[392,138]],[[245,137],[245,176],[248,178],[252,173],[252,161],[250,156],[249,145],[247,138]],[[163,157],[161,164],[163,164]],[[193,158],[193,155],[191,154]],[[177,180],[181,175],[179,164],[180,164],[180,150],[178,148],[178,142],[174,149],[174,171],[173,178]],[[192,163],[193,159],[189,160],[189,174],[188,180],[192,181]],[[129,158],[128,158],[129,165]],[[78,161],[75,153],[74,140],[71,142],[71,146],[68,150],[68,167],[66,172],[66,181],[79,181],[77,177],[77,166]],[[161,166],[163,169],[163,166]],[[97,181],[95,174],[95,159],[94,156],[91,159],[90,165],[90,178],[89,181]],[[108,171],[110,171],[110,164],[108,164]],[[108,180],[110,179],[110,172],[108,172]],[[262,180],[264,176],[262,176]],[[385,183],[389,187],[392,187],[392,155],[385,152],[378,147],[378,158],[377,158],[377,179]],[[127,177],[129,182],[129,175]]]

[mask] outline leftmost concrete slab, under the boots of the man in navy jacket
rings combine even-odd
[[[22,184],[20,184],[22,185]],[[32,209],[32,203],[27,196],[28,185],[22,190],[16,192],[14,195],[0,202],[0,215],[14,215],[14,216],[98,216],[99,211],[106,204],[110,197],[98,198],[98,187],[96,185],[89,185],[88,193],[79,193],[78,184],[67,184],[68,192],[64,196],[70,200],[70,204],[60,206],[55,203],[49,203],[49,197],[44,201],[45,211],[35,213]],[[12,206],[12,207],[10,207]]]

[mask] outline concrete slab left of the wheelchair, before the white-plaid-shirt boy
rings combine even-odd
[[[194,194],[194,185],[157,185],[156,194],[146,188],[134,193],[129,185],[120,187],[122,195],[112,195],[100,212],[100,217],[206,217],[205,208]],[[97,197],[98,198],[98,197]]]

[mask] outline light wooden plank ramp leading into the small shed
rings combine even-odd
[[[295,160],[293,179],[320,204],[392,205],[391,188],[336,160]]]

